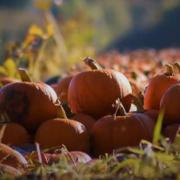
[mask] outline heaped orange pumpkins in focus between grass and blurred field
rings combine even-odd
[[[163,133],[173,141],[180,124],[178,63],[152,77],[143,95],[123,73],[90,58],[84,62],[90,70],[51,85],[32,82],[22,69],[22,82],[1,78],[2,143],[37,142],[41,149],[65,145],[70,152],[98,157],[142,139],[152,141],[161,109]]]

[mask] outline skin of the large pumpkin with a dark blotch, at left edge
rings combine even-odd
[[[57,116],[56,102],[55,91],[44,83],[16,82],[0,89],[0,112],[29,131]]]

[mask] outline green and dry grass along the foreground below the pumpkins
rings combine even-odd
[[[138,147],[126,147],[105,154],[89,163],[72,163],[67,156],[51,165],[31,163],[16,179],[180,179],[180,134],[173,143],[161,136],[163,111],[160,112],[154,144],[142,140]],[[61,149],[62,152],[67,151]],[[29,162],[33,162],[30,158]],[[1,171],[1,179],[14,179]]]

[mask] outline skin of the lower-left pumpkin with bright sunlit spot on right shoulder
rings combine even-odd
[[[36,132],[35,141],[42,148],[65,145],[69,151],[89,151],[89,134],[85,126],[69,119],[44,122]]]

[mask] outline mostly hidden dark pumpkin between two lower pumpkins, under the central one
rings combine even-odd
[[[96,120],[92,118],[91,116],[87,114],[82,114],[82,113],[75,114],[72,117],[72,119],[82,123],[89,132],[91,131],[91,129],[94,126],[94,123],[96,122]]]

